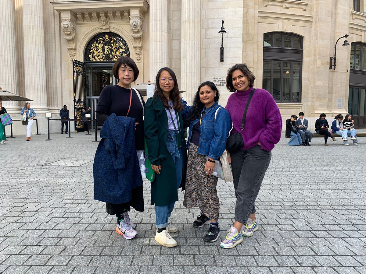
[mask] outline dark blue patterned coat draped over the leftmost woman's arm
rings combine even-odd
[[[125,203],[142,185],[135,148],[135,119],[112,113],[104,122],[94,156],[94,199]]]

